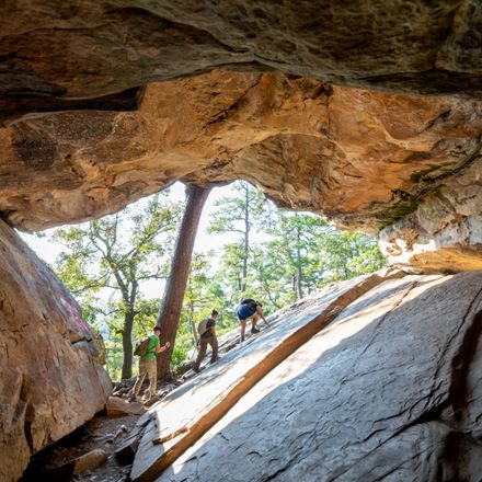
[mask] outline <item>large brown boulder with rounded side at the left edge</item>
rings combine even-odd
[[[101,410],[92,332],[51,271],[0,221],[0,480]]]

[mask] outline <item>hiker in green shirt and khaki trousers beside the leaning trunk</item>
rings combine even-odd
[[[161,346],[161,342],[159,340],[161,329],[159,326],[154,326],[152,329],[152,335],[139,344],[142,345],[142,343],[147,343],[147,340],[149,340],[149,344],[145,349],[141,351],[144,355],[140,354],[139,357],[139,376],[137,377],[136,385],[133,388],[133,394],[129,398],[129,402],[136,401],[146,376],[149,378],[149,398],[146,400],[146,402],[152,400],[156,394],[158,383],[158,362],[156,359],[156,353],[164,352],[171,346],[171,344],[168,342],[164,346]],[[136,348],[136,352],[137,349],[138,348]]]

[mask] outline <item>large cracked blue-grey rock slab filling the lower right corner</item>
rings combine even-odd
[[[378,285],[154,480],[480,480],[481,315],[482,272]]]

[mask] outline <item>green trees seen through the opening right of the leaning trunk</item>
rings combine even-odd
[[[214,282],[222,287],[227,319],[232,324],[236,318],[230,313],[241,297],[263,300],[265,312],[269,312],[321,286],[385,266],[382,254],[368,236],[338,231],[312,214],[277,209],[271,202],[260,200],[259,193],[251,195],[251,188],[238,183],[233,196],[219,203],[210,228],[240,234],[240,241],[225,245],[214,275]],[[256,200],[250,205],[250,198]],[[244,225],[248,233],[256,232],[248,249],[243,213],[250,220]]]

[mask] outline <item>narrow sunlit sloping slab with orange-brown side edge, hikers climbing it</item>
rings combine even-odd
[[[145,415],[150,422],[134,460],[131,480],[152,480],[169,467],[262,377],[344,307],[382,283],[382,276],[374,274],[341,283],[276,312],[268,319],[269,328],[259,336],[222,354],[214,366],[152,406]]]

